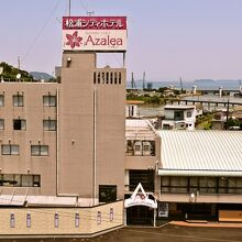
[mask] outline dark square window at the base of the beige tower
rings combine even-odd
[[[117,200],[116,185],[99,185],[99,202],[110,202]]]

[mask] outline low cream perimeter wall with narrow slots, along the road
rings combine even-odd
[[[110,221],[110,208],[113,220]],[[101,223],[97,223],[97,212],[101,212]],[[15,227],[10,228],[10,215],[14,213]],[[31,215],[31,228],[26,228],[26,215]],[[59,216],[59,227],[55,228],[55,212]],[[79,228],[75,227],[75,213],[79,213]],[[75,234],[91,235],[123,224],[123,201],[94,208],[7,208],[0,209],[1,235]]]

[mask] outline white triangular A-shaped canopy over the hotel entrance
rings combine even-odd
[[[157,202],[156,200],[152,200],[148,198],[148,195],[144,191],[144,188],[140,183],[131,197],[124,200],[124,208],[133,206],[146,206],[150,208],[157,208]]]

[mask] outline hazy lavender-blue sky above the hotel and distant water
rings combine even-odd
[[[72,15],[127,15],[128,79],[242,78],[242,0],[72,0]],[[53,74],[68,0],[1,0],[0,62]],[[117,66],[108,55],[100,65]]]

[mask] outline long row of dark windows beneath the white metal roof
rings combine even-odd
[[[242,194],[242,177],[161,177],[162,193]]]

